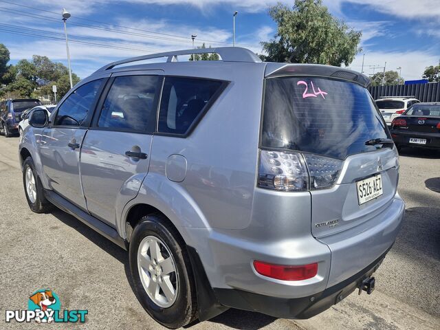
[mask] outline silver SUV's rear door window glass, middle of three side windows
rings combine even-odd
[[[102,106],[98,127],[153,133],[162,78],[116,77]]]

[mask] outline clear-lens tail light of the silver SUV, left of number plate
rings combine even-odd
[[[266,151],[260,153],[259,187],[283,191],[329,188],[343,162],[311,154]]]

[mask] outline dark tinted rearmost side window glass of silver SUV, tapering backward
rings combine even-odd
[[[222,85],[217,80],[166,77],[158,131],[185,134]]]

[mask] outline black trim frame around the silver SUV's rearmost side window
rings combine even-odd
[[[212,97],[210,98],[208,103],[206,103],[206,105],[205,105],[205,107],[203,107],[202,111],[200,111],[200,113],[192,121],[192,123],[190,124],[190,126],[188,127],[188,129],[186,130],[185,133],[167,133],[167,132],[159,132],[159,111],[160,111],[160,105],[162,103],[162,91],[164,90],[164,85],[165,85],[165,79],[164,79],[164,83],[162,85],[162,90],[160,91],[160,101],[159,101],[159,104],[157,107],[157,116],[156,116],[157,122],[156,122],[155,135],[159,135],[159,136],[186,138],[189,135],[191,135],[192,131],[194,131],[194,129],[199,124],[199,122],[201,122],[202,118],[206,115],[206,113],[208,113],[208,110],[212,107],[212,105],[214,105],[214,103],[217,101],[219,96],[221,96],[221,94],[223,94],[223,91],[225,91],[226,87],[228,87],[228,85],[230,84],[230,81],[228,81],[228,80],[193,77],[193,76],[169,76],[169,75],[166,75],[166,76],[164,76],[164,78],[165,79],[166,78],[188,78],[188,79],[210,80],[210,81],[218,81],[219,83],[221,83],[221,85],[220,85],[219,89],[217,89],[217,91],[215,91],[215,93],[212,94]]]

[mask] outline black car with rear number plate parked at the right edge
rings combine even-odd
[[[440,102],[417,103],[395,118],[391,135],[402,146],[440,149]]]

